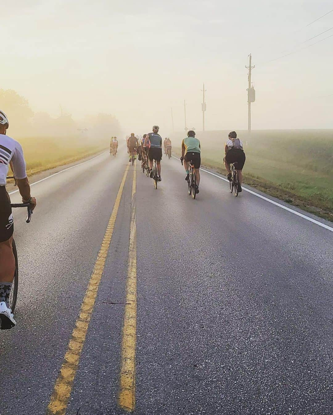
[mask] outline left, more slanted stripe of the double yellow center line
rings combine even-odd
[[[127,164],[127,168],[125,169],[124,176],[122,177],[118,195],[113,206],[110,220],[105,231],[103,242],[100,247],[100,251],[98,252],[93,273],[91,274],[88,288],[83,298],[80,315],[76,320],[75,327],[68,344],[67,352],[65,354],[63,364],[61,365],[60,373],[54,385],[54,391],[51,395],[50,403],[47,407],[46,413],[48,415],[64,415],[66,413],[69,396],[71,394],[73,381],[75,378],[76,370],[78,368],[78,362],[80,360],[80,355],[84,341],[86,339],[89,321],[93,312],[98,286],[100,284],[100,278],[102,277],[105,260],[108,255],[108,249],[110,246],[113,229],[115,227],[115,220],[117,218],[122,190],[125,186],[128,169],[129,165]]]

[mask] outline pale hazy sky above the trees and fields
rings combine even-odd
[[[2,7],[0,88],[34,111],[73,117],[111,112],[137,133],[247,127],[247,55],[256,102],[252,128],[333,128],[332,2],[269,0],[15,0]],[[330,96],[331,95],[331,96]],[[5,108],[4,108],[5,110]]]

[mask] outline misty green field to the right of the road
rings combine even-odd
[[[171,137],[180,149],[183,134]],[[225,174],[228,131],[197,132],[202,163]],[[244,182],[333,220],[333,130],[238,131],[244,143]]]

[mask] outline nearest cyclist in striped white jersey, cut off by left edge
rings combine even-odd
[[[9,127],[7,115],[0,111],[0,329],[10,329],[16,325],[12,310],[8,308],[8,298],[15,272],[15,258],[12,250],[14,220],[10,198],[6,191],[6,176],[12,167],[23,203],[36,206],[36,199],[30,195],[25,161],[21,145],[6,135]]]

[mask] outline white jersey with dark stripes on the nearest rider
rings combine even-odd
[[[21,144],[5,134],[0,134],[0,186],[6,185],[10,161],[14,176],[17,179],[26,178],[27,172]]]

